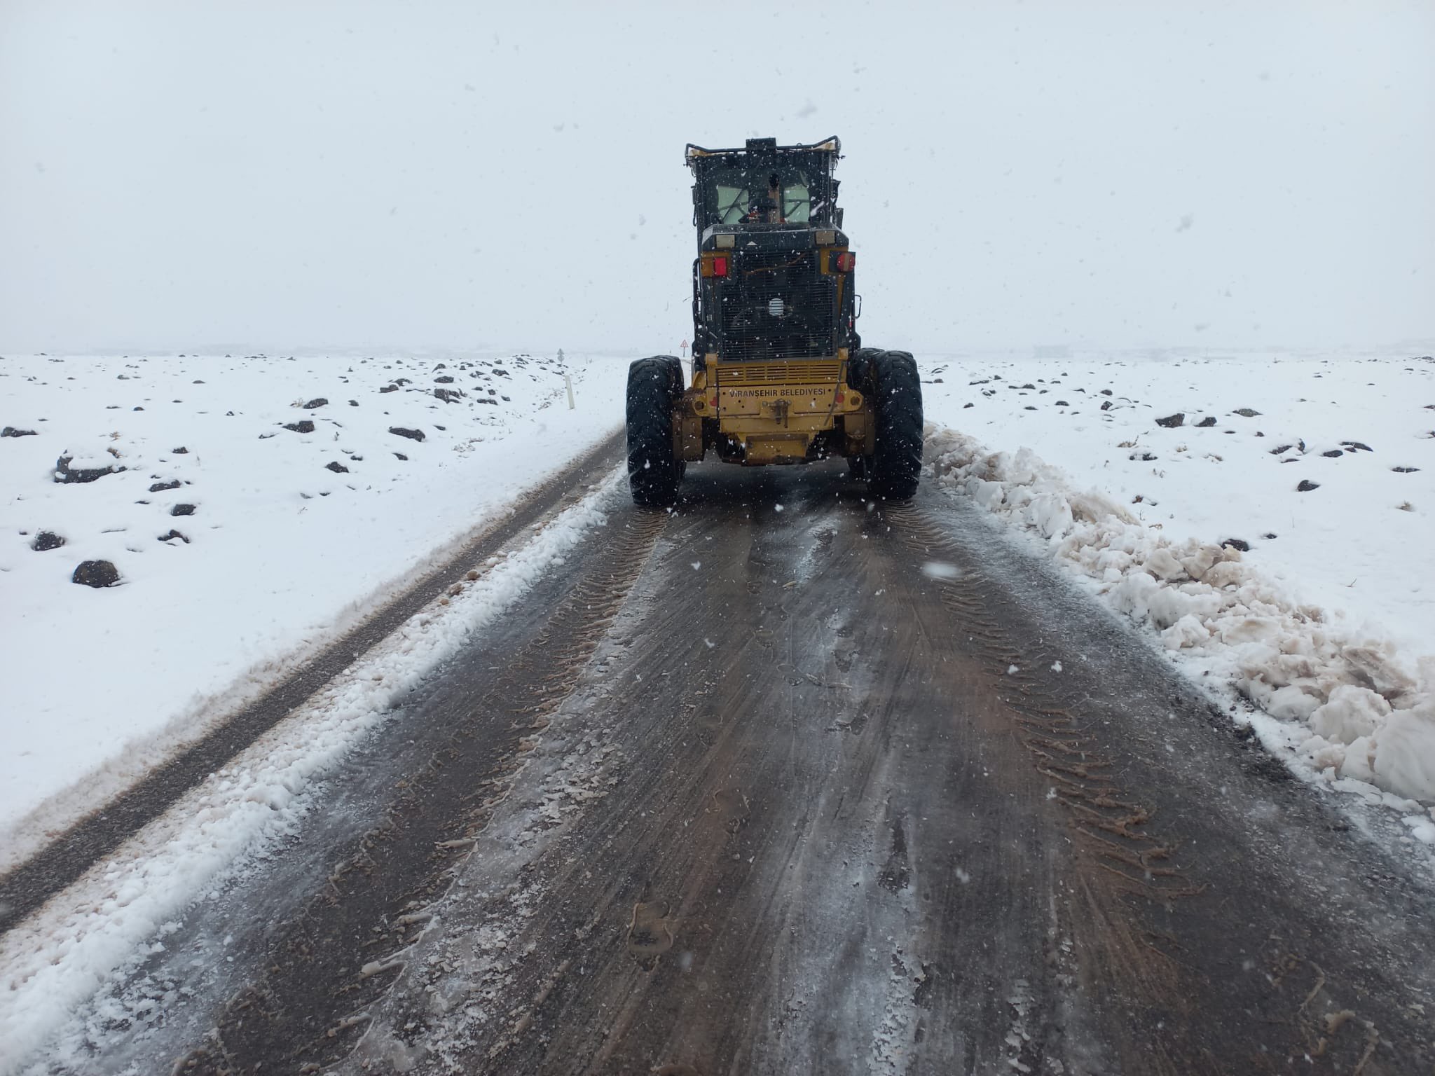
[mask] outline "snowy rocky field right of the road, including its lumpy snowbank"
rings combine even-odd
[[[1435,360],[953,356],[924,396],[938,481],[1435,842]]]

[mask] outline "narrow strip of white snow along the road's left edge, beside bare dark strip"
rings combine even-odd
[[[115,971],[162,945],[169,921],[217,895],[243,855],[284,838],[316,782],[408,692],[527,594],[594,527],[621,482],[613,471],[459,594],[439,598],[369,656],[185,795],[40,912],[0,938],[0,1076],[39,1049]],[[211,888],[212,887],[212,888]]]

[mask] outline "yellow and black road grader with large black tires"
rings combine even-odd
[[[832,178],[841,142],[687,146],[693,172],[693,376],[670,354],[629,369],[629,485],[672,505],[687,462],[847,456],[883,498],[921,472],[921,383],[905,351],[862,347],[857,254]]]

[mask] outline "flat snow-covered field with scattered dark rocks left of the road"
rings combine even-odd
[[[0,359],[0,869],[611,433],[624,369]],[[72,584],[85,561],[118,584]]]

